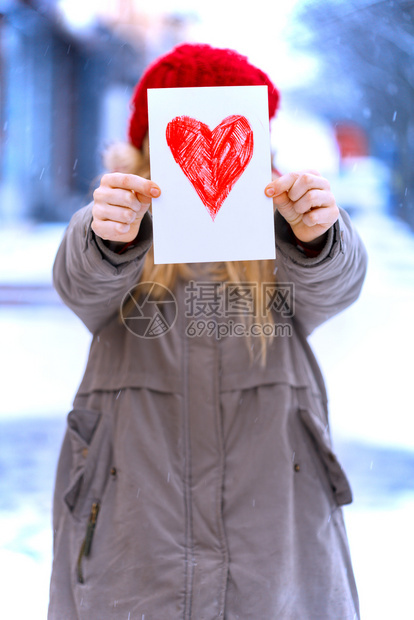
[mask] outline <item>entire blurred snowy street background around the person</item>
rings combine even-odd
[[[90,342],[53,291],[54,255],[102,149],[125,138],[146,65],[199,41],[269,73],[282,93],[275,165],[327,176],[367,246],[361,298],[311,341],[354,490],[362,620],[411,620],[414,2],[203,5],[0,0],[1,616],[46,618],[54,472]]]

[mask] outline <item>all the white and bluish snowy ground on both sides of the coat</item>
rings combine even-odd
[[[358,212],[354,221],[370,256],[364,291],[311,341],[328,385],[338,453],[354,488],[345,518],[362,619],[409,620],[414,236],[385,214]],[[0,287],[50,283],[61,235],[61,226],[1,231]],[[61,305],[3,305],[0,341],[2,612],[8,620],[44,620],[54,470],[90,335]]]

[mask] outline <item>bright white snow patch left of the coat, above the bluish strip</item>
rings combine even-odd
[[[0,418],[62,416],[82,378],[91,336],[62,306],[0,306]]]

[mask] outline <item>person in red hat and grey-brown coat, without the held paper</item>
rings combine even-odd
[[[273,116],[277,89],[235,52],[157,60],[58,251],[55,286],[93,341],[58,465],[50,620],[359,618],[351,492],[306,340],[362,286],[347,214],[317,173],[289,173],[263,188],[276,261],[152,260],[147,88],[260,84]]]

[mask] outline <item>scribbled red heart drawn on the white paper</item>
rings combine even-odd
[[[244,116],[228,116],[211,130],[190,116],[167,125],[168,146],[214,219],[253,155],[253,131]]]

